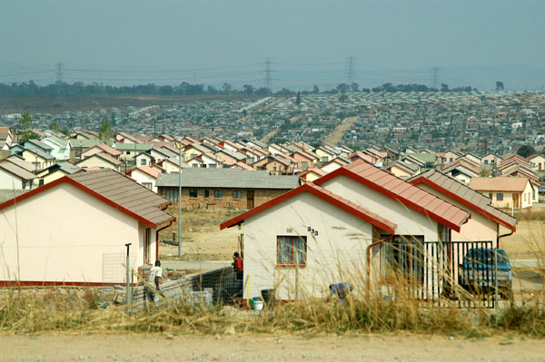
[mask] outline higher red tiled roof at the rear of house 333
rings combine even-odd
[[[393,176],[365,161],[355,161],[340,169],[332,171],[320,179],[314,181],[322,185],[337,176],[344,175],[352,180],[359,181],[365,186],[379,191],[382,194],[400,201],[403,205],[421,214],[429,216],[432,220],[445,225],[452,230],[460,232],[461,225],[471,218],[471,214],[452,205],[447,201],[431,195],[407,181]]]

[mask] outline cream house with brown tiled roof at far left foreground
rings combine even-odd
[[[112,171],[64,176],[0,204],[0,285],[104,286],[157,259],[170,201]],[[135,280],[134,280],[135,281]]]

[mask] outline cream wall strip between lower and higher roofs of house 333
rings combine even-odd
[[[395,233],[398,235],[423,235],[425,241],[441,240],[437,221],[358,181],[341,175],[323,183],[322,187],[397,224]]]

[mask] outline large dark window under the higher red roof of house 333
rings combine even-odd
[[[387,238],[386,235],[381,239]],[[395,235],[383,244],[384,260],[382,273],[391,279],[423,281],[424,278],[424,237],[423,235]],[[390,278],[389,278],[390,279]]]

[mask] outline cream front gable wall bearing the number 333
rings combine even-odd
[[[372,242],[371,224],[307,192],[245,220],[243,230],[243,298],[274,288],[281,299],[326,297],[330,284],[364,273]],[[277,236],[306,236],[304,267],[277,265]]]

